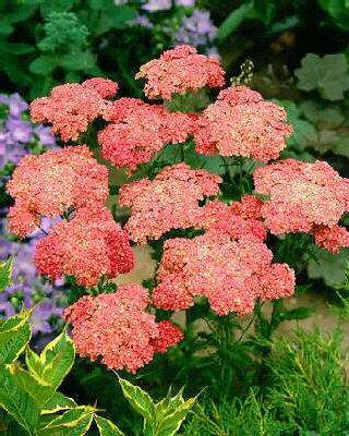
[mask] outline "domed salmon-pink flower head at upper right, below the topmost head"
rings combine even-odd
[[[197,121],[196,152],[243,156],[267,162],[277,159],[292,133],[286,111],[260,93],[233,86],[219,93]]]

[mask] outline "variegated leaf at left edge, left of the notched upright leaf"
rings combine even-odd
[[[31,340],[28,318],[23,312],[0,324],[0,366],[15,361]]]

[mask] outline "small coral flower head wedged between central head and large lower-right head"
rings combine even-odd
[[[267,233],[264,223],[257,218],[240,214],[240,210],[237,210],[237,204],[242,210],[242,203],[239,202],[233,202],[230,206],[217,199],[207,203],[200,208],[195,227],[217,231],[236,239],[250,234],[264,241]],[[254,214],[254,209],[251,214]]]

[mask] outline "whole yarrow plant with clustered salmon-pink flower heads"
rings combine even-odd
[[[188,352],[196,306],[222,329],[251,312],[262,325],[263,303],[296,288],[288,259],[273,254],[282,242],[275,235],[306,232],[333,252],[349,245],[338,226],[349,180],[326,162],[282,159],[292,128],[281,107],[245,86],[221,89],[219,60],[188,45],[142,65],[136,78],[147,102],[116,97],[119,85],[106,78],[60,85],[33,101],[32,117],[67,144],[25,157],[8,184],[14,234],[26,237],[44,217],[60,219],[35,262],[43,275],[69,276],[89,294],[64,312],[79,353],[131,373],[173,346]],[[216,100],[188,109],[185,99],[203,88]],[[120,180],[125,170],[117,190],[112,167]],[[136,262],[134,244],[154,249],[156,277],[118,287],[113,279]],[[181,331],[170,318],[184,310]]]

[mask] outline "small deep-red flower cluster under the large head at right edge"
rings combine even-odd
[[[349,246],[349,232],[340,226],[315,226],[313,229],[316,245],[338,253],[340,249]]]

